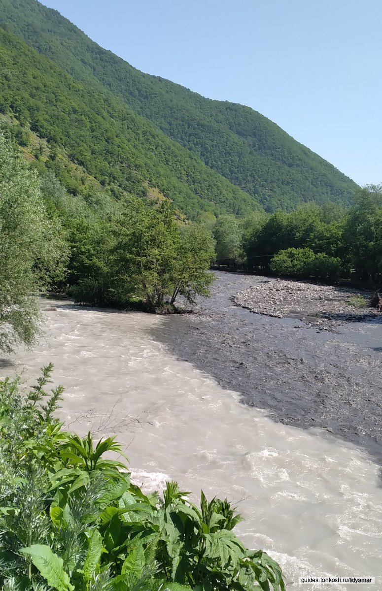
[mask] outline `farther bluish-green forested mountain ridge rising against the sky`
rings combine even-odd
[[[215,201],[215,193],[224,187],[230,194],[218,200],[220,210],[236,214],[248,211],[256,202],[273,211],[278,207],[291,210],[302,202],[348,203],[351,199],[353,181],[260,113],[235,103],[203,98],[161,77],[141,73],[99,47],[59,12],[35,0],[0,0],[0,8],[3,27],[59,64],[77,82],[85,83],[82,88],[86,87],[87,92],[90,88],[92,92],[107,91],[110,101],[118,100],[119,109],[122,104],[128,105],[135,114],[153,122],[151,134],[158,134],[160,128],[182,144],[193,167],[197,162],[200,167],[202,160],[217,171],[219,176],[209,179],[218,183],[219,190],[211,193],[210,184],[208,192],[202,186],[195,188],[189,178],[193,174],[186,168],[177,174],[178,179],[183,175],[199,199]],[[132,117],[130,109],[128,112]],[[142,119],[140,122],[144,125]],[[180,151],[179,145],[166,145],[169,150],[172,145],[184,161],[187,159],[187,152]],[[203,169],[203,176],[207,174]],[[231,184],[222,184],[222,176]],[[235,194],[232,184],[248,196]],[[187,199],[184,193],[179,206],[184,212],[195,213],[195,208],[200,207],[198,199],[190,204]]]

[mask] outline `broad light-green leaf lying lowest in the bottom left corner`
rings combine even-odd
[[[46,579],[48,585],[57,591],[74,591],[75,587],[70,584],[69,575],[64,571],[62,558],[54,554],[49,546],[34,544],[28,548],[22,548],[20,553],[31,557],[34,566]]]

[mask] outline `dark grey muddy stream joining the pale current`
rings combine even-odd
[[[382,464],[382,324],[316,332],[296,318],[251,314],[231,298],[269,278],[216,275],[213,297],[199,302],[198,313],[169,318],[154,338],[239,392],[244,404],[287,425],[323,428]]]

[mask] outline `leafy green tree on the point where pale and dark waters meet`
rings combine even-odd
[[[208,230],[198,225],[180,229],[167,200],[134,202],[124,220],[112,278],[118,303],[138,298],[154,311],[172,306],[180,295],[189,303],[198,294],[209,295],[213,241]]]

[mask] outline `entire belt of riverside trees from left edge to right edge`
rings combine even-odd
[[[2,350],[37,338],[32,294],[47,288],[78,303],[168,313],[179,297],[209,295],[213,261],[326,281],[382,278],[380,187],[359,189],[349,209],[306,204],[190,222],[160,195],[71,193],[52,170],[31,167],[9,132],[0,163]]]

